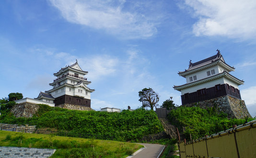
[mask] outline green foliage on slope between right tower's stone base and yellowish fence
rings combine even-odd
[[[192,139],[197,139],[232,128],[233,124],[239,125],[245,122],[244,119],[228,119],[226,113],[217,113],[216,108],[205,110],[199,107],[179,107],[172,110],[168,118],[180,132],[185,128],[184,134],[187,140],[190,140],[190,134]]]

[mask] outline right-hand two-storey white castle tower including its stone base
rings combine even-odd
[[[230,117],[250,116],[238,88],[244,81],[230,74],[235,68],[229,66],[217,51],[216,55],[198,62],[190,60],[188,69],[178,72],[186,78],[186,84],[174,86],[181,92],[182,105],[199,103],[203,108],[217,106]]]

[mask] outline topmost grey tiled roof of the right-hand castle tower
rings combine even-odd
[[[214,56],[210,56],[206,59],[203,59],[203,60],[200,60],[196,63],[192,63],[191,60],[189,62],[189,68],[188,69],[185,69],[185,71],[179,71],[178,74],[182,74],[182,73],[185,73],[185,72],[188,72],[188,71],[191,71],[191,70],[194,70],[194,69],[197,69],[197,68],[201,68],[201,67],[204,67],[206,65],[209,65],[209,64],[212,64],[212,63],[215,63],[215,62],[218,62],[218,61],[222,61],[223,63],[225,63],[222,55],[220,52],[218,52],[216,55]],[[227,65],[228,67],[230,68],[233,68],[231,66],[229,66],[228,64],[225,63],[225,65]]]

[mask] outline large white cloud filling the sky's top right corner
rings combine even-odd
[[[250,39],[256,35],[255,0],[185,0],[194,9],[196,35]]]

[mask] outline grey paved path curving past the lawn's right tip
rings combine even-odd
[[[163,151],[164,146],[160,144],[145,144],[138,143],[145,146],[139,153],[132,158],[158,158]]]

